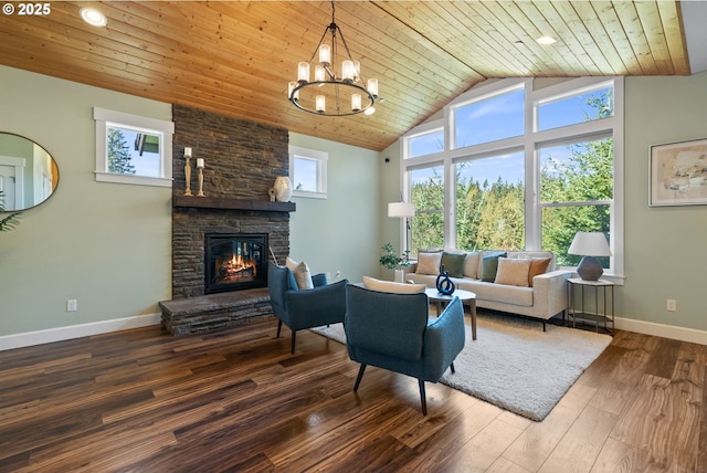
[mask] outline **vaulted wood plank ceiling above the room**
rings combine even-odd
[[[80,19],[86,4],[0,17],[0,63],[374,150],[486,78],[689,74],[678,2],[344,1],[336,22],[384,103],[323,117],[286,95],[329,2],[92,2],[102,29]]]

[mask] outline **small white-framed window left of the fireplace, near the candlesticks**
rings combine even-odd
[[[94,107],[96,180],[172,186],[175,124]]]

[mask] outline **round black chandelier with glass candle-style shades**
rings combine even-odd
[[[317,49],[308,62],[297,65],[297,81],[288,86],[289,102],[297,108],[310,114],[325,116],[346,116],[376,112],[373,107],[378,98],[378,80],[369,78],[363,86],[361,63],[354,61],[344,33],[334,21],[334,2],[331,2],[331,24],[325,30]],[[327,33],[331,43],[325,43]],[[336,70],[339,53],[338,40],[344,46],[346,56],[341,61],[341,73]],[[314,81],[310,81],[310,64],[319,54],[319,62],[314,63]],[[328,104],[328,107],[327,107]]]

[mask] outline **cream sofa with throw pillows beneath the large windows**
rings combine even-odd
[[[556,270],[551,252],[421,251],[418,261],[404,269],[404,281],[435,287],[445,262],[456,288],[476,294],[477,307],[538,318],[544,330],[548,319],[567,308],[567,280],[572,272]]]

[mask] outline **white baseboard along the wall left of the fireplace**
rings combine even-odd
[[[110,332],[127,330],[129,328],[147,327],[148,325],[158,325],[161,322],[160,317],[160,314],[136,315],[133,317],[114,318],[112,320],[27,332],[24,334],[3,335],[0,336],[0,351],[52,341],[70,340],[72,338],[88,337],[91,335],[108,334]]]

